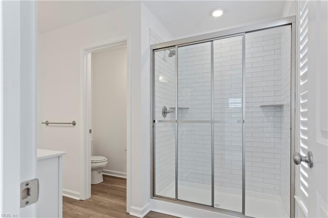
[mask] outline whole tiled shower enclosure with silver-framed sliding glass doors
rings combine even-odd
[[[295,17],[152,46],[152,194],[294,217]]]

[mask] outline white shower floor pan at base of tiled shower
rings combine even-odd
[[[245,215],[253,217],[289,217],[280,195],[245,191]],[[175,197],[175,183],[172,182],[158,195]],[[214,187],[214,205],[217,208],[241,212],[242,193],[240,189]],[[211,205],[211,186],[178,181],[178,199]]]

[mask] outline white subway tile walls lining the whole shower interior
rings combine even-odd
[[[289,205],[290,27],[248,33],[245,42],[246,189],[281,195]],[[156,119],[161,120],[175,119],[175,56],[168,53],[155,55]],[[178,119],[210,120],[210,42],[180,47],[177,55]],[[163,118],[162,106],[174,112]],[[214,119],[242,120],[241,36],[214,41]],[[163,159],[175,164],[175,126],[160,128],[156,148],[162,146],[166,158],[156,159],[159,171],[168,166]],[[241,123],[214,124],[214,157],[214,185],[241,189]],[[158,191],[174,182],[173,168],[161,175]],[[211,184],[211,124],[178,123],[178,180]]]

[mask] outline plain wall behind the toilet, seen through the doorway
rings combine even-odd
[[[126,176],[127,47],[91,54],[92,155],[104,156],[104,173]]]

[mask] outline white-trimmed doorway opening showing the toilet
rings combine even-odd
[[[80,199],[92,198],[108,184],[118,185],[127,212],[131,146],[129,45],[127,37],[81,50],[84,143]]]

